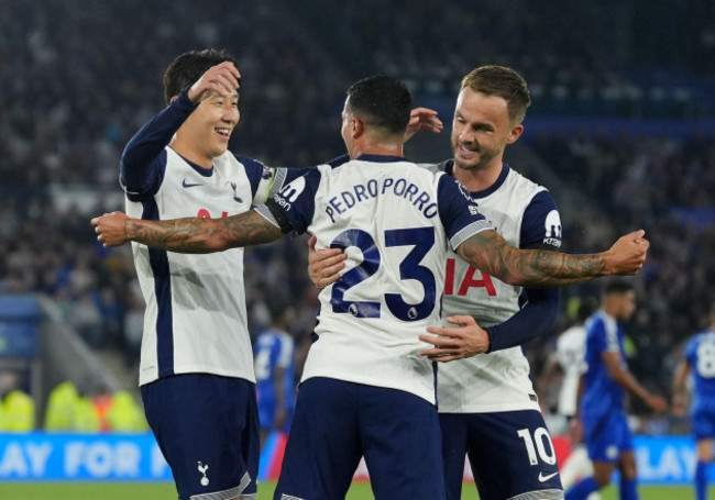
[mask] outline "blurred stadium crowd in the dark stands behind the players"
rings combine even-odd
[[[353,43],[377,47],[366,69],[400,76],[421,91],[451,93],[452,82],[475,60],[521,71],[535,95],[531,113],[544,102],[539,96],[552,95],[559,86],[574,96],[586,96],[587,89],[603,93],[614,86],[634,91],[637,80],[623,69],[632,60],[622,55],[614,63],[610,57],[624,42],[612,41],[598,23],[590,29],[583,24],[587,12],[563,1],[551,8],[568,8],[573,18],[548,11],[527,15],[525,4],[488,2],[480,15],[473,15],[465,1],[436,2],[415,11],[409,7],[410,15],[400,16],[408,2],[393,2],[385,9],[384,2],[370,0],[348,2],[341,19],[349,20],[350,33],[360,34]],[[143,15],[127,14],[140,7]],[[47,0],[42,9],[32,2],[7,2],[3,9],[0,292],[54,297],[89,345],[120,347],[133,366],[139,359],[144,305],[130,249],[99,247],[87,215],[105,211],[102,197],[118,192],[121,149],[163,102],[161,69],[184,49],[226,46],[239,56],[243,76],[242,123],[232,149],[271,165],[306,166],[342,153],[336,116],[350,62],[334,57],[334,47],[321,45],[301,24],[300,14],[279,0],[256,5],[224,0],[201,4]],[[627,12],[618,12],[629,19]],[[712,66],[707,69],[702,62],[715,51],[715,27],[707,24],[715,18],[695,14],[691,21],[697,38],[683,64],[689,70],[701,69],[693,77],[696,82],[713,77]],[[501,23],[492,22],[497,18]],[[443,36],[452,25],[462,31]],[[425,32],[419,26],[428,27]],[[528,35],[508,35],[515,32]],[[88,38],[92,43],[86,43]],[[471,52],[464,51],[464,44],[473,44]],[[587,49],[581,51],[584,46]],[[673,56],[664,53],[664,57]],[[595,114],[605,109],[603,103],[593,105]],[[449,122],[448,116],[442,119]],[[537,135],[528,146],[595,207],[586,212],[560,202],[562,213],[574,214],[564,227],[568,252],[593,252],[617,234],[639,226],[647,230],[652,245],[637,279],[638,313],[627,325],[636,353],[630,366],[639,379],[667,393],[682,343],[706,324],[708,308],[715,303],[711,285],[715,263],[708,258],[715,254],[711,195],[715,135],[681,138],[570,131]],[[53,204],[53,189],[70,186],[97,193],[97,205],[89,213],[78,205]],[[560,201],[559,192],[553,195]],[[307,342],[317,290],[307,278],[306,254],[305,238],[246,251],[253,334],[271,323],[267,302],[289,298],[300,304],[293,333]],[[565,305],[571,299],[597,293],[597,282],[564,290],[564,313],[554,335],[570,322]],[[552,345],[553,336],[529,345],[535,371]]]

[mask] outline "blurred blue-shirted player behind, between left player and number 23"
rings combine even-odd
[[[296,399],[294,309],[284,300],[268,302],[271,327],[255,341],[255,380],[261,448],[271,432],[288,432]]]

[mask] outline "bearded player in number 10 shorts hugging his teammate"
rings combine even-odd
[[[454,156],[430,168],[462,182],[512,245],[558,252],[561,222],[553,198],[503,159],[505,147],[524,130],[529,102],[526,81],[512,68],[475,68],[463,78],[457,101]],[[436,115],[421,113],[420,123],[438,131]],[[316,277],[336,278],[342,265],[337,257],[322,263],[315,253],[310,257],[316,284],[329,282]],[[461,498],[465,455],[484,500],[537,493],[562,498],[556,455],[520,347],[553,325],[558,291],[510,286],[453,252],[446,264],[442,316],[460,327],[430,329],[442,337],[424,340],[437,345],[426,354],[452,360],[440,364],[438,374],[447,498]],[[454,360],[469,356],[474,357]]]

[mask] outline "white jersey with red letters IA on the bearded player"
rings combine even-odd
[[[505,165],[492,188],[472,192],[472,197],[477,202],[480,212],[496,231],[509,244],[519,247],[522,244],[520,234],[525,211],[534,197],[546,188]],[[560,245],[558,211],[554,209],[542,216],[538,221],[539,227],[543,229],[540,243]],[[453,252],[447,257],[443,318],[469,314],[479,325],[486,327],[503,323],[519,311],[521,287],[507,285],[483,274]],[[444,325],[450,326],[448,323]],[[440,363],[438,400],[440,413],[539,410],[538,398],[529,378],[529,363],[519,346],[458,362]]]

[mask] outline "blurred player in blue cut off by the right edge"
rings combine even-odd
[[[713,462],[715,438],[715,308],[710,326],[694,335],[685,346],[685,359],[675,370],[673,405],[685,409],[685,380],[693,374],[693,401],[690,408],[691,427],[697,447],[695,493],[697,500],[707,498],[707,466]]]

